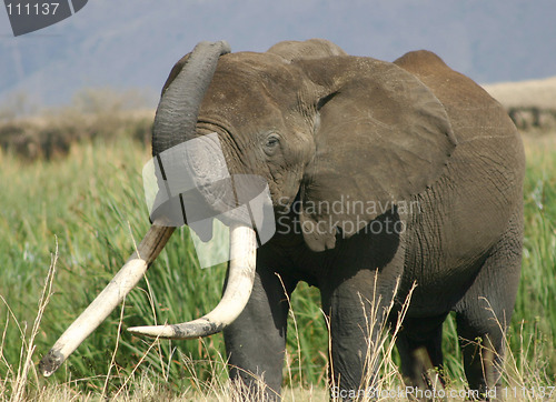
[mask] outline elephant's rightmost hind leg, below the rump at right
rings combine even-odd
[[[456,306],[457,331],[469,389],[480,398],[496,392],[504,336],[512,319],[522,271],[523,220],[516,213],[477,278]],[[493,391],[494,390],[494,391]]]

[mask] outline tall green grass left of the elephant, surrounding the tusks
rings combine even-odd
[[[56,243],[59,255],[54,294],[36,339],[37,358],[48,351],[52,341],[110,281],[133,249],[133,239],[140,241],[149,224],[140,178],[147,158],[147,150],[126,139],[117,145],[97,142],[75,147],[63,161],[26,164],[2,157],[0,202],[4,219],[0,221],[0,254],[4,257],[4,269],[0,294],[6,303],[0,303],[0,316],[6,318],[7,325],[1,378],[19,361],[21,336],[14,320],[32,322],[37,313],[34,300]],[[143,281],[126,300],[126,325],[152,322],[153,316],[160,322],[190,320],[216,305],[224,268],[199,269],[188,242],[187,230],[173,235],[151,267],[148,282]],[[81,386],[101,390],[105,379],[98,375],[108,372],[119,319],[117,311],[80,346],[57,378],[87,379],[80,381]],[[110,386],[121,384],[120,379],[133,370],[146,348],[142,339],[121,336]],[[222,351],[222,339],[216,335],[182,342],[178,349],[160,342],[155,349],[160,353],[149,354],[141,370],[171,380],[179,389],[188,381],[193,364],[202,366],[202,361],[207,361],[210,365],[216,360]],[[188,366],[182,355],[191,356],[195,363]],[[203,379],[203,370],[200,372]]]

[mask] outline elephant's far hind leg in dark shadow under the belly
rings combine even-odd
[[[441,372],[443,322],[447,314],[433,318],[406,318],[396,339],[401,373],[408,386],[427,389],[441,376],[431,378],[430,369]]]

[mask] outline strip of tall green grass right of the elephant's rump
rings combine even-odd
[[[556,384],[556,135],[525,137],[525,242],[522,282],[510,329],[518,364],[538,361],[539,375]],[[519,336],[519,330],[527,334]],[[543,366],[544,363],[544,366]],[[555,395],[556,396],[556,395]]]

